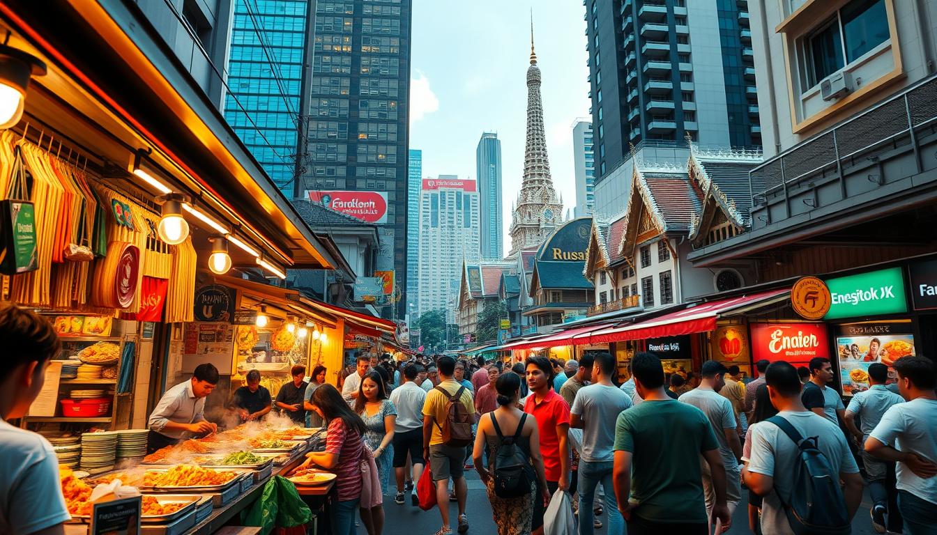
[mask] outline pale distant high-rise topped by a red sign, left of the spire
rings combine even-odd
[[[424,178],[420,192],[421,314],[454,311],[465,261],[477,262],[480,251],[479,194],[474,180],[453,174]]]

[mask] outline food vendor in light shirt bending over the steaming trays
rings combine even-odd
[[[218,384],[218,368],[199,364],[192,379],[181,382],[163,394],[150,414],[150,433],[146,437],[146,453],[178,443],[192,435],[208,435],[218,429],[205,420],[205,398]]]

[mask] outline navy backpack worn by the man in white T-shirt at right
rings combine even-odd
[[[840,473],[817,448],[817,437],[802,438],[790,422],[772,416],[777,425],[797,445],[794,487],[791,501],[778,499],[787,514],[787,523],[796,535],[848,535],[852,532],[846,504],[840,490]]]

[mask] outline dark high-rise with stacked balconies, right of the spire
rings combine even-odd
[[[686,139],[760,147],[745,0],[585,0],[596,210],[624,210],[639,159],[686,162]],[[615,184],[605,184],[604,182]]]

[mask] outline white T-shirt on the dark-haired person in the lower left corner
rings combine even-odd
[[[52,444],[0,420],[0,533],[33,533],[70,519]]]

